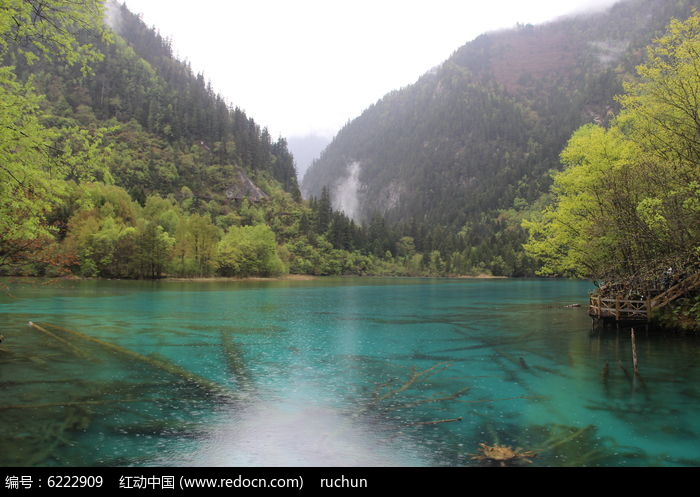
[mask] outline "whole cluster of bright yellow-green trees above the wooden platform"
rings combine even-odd
[[[626,85],[609,129],[585,126],[562,153],[553,204],[527,251],[543,274],[653,279],[700,258],[700,16],[673,21]]]

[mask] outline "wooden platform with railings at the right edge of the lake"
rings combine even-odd
[[[647,298],[630,299],[623,295],[601,296],[594,293],[588,302],[588,314],[602,320],[647,322],[655,310],[667,306],[698,288],[700,288],[700,272],[685,278],[664,292],[654,292],[657,294]]]

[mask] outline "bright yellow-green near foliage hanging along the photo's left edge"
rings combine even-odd
[[[57,56],[86,69],[99,58],[75,36],[86,26],[101,30],[100,1],[0,0],[0,58]],[[0,67],[0,264],[27,257],[50,238],[46,217],[64,191],[67,165],[81,162],[86,172],[94,164],[92,147],[72,154],[54,146],[57,135],[42,124],[40,102],[14,67]]]

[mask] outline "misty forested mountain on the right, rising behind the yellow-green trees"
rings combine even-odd
[[[522,211],[547,191],[572,132],[613,116],[645,47],[694,7],[700,2],[625,0],[484,34],[346,125],[303,190],[328,187],[337,199],[351,186],[355,219],[379,213],[419,250],[466,250],[471,265],[522,274]]]

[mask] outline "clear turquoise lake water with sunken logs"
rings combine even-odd
[[[585,282],[0,284],[2,466],[700,464],[700,340],[635,377]]]

